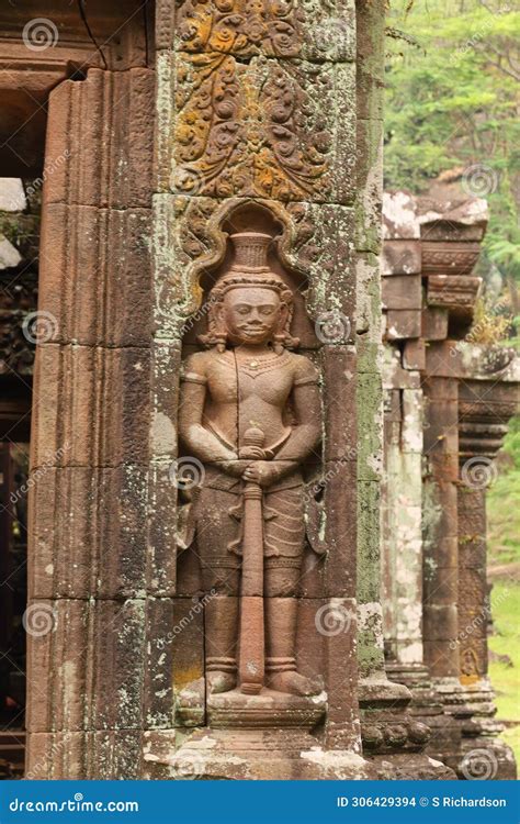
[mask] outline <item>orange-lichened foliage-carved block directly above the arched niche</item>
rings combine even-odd
[[[259,56],[242,63],[217,51],[201,65],[199,55],[178,52],[159,69],[159,119],[171,124],[158,148],[160,186],[168,177],[176,194],[352,201],[352,64]],[[194,121],[201,105],[213,114]]]

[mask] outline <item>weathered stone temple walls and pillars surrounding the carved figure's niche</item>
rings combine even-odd
[[[204,661],[202,613],[177,589],[171,550],[181,339],[201,305],[199,263],[250,205],[284,227],[312,322],[350,324],[318,358],[338,547],[320,598],[358,603],[358,628],[320,652],[320,746],[381,778],[464,778],[466,753],[485,748],[511,777],[485,635],[461,641],[487,595],[484,494],[460,472],[495,454],[518,387],[512,360],[459,345],[483,207],[446,214],[388,196],[382,246],[380,3],[338,3],[332,49],[318,7],[289,10],[260,40],[246,14],[230,43],[206,5],[203,37],[190,3],[173,20],[158,2],[154,68],[137,33],[123,70],[109,59],[49,98],[38,308],[57,324],[35,366],[32,466],[49,469],[32,492],[30,599],[48,605],[53,632],[30,644],[27,771],[167,777],[185,735],[177,695]]]

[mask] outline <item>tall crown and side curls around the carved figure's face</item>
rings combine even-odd
[[[283,347],[294,348],[298,345],[298,341],[292,337],[290,333],[293,316],[293,293],[280,275],[276,275],[268,266],[271,235],[260,232],[239,232],[230,235],[230,240],[235,249],[235,257],[229,271],[216,281],[210,292],[207,334],[200,335],[200,342],[205,346],[217,346],[222,350],[225,348],[226,331],[221,327],[218,308],[224,301],[224,296],[230,289],[251,286],[272,289],[278,292],[281,302],[286,305],[287,312],[283,329],[280,329],[274,335],[273,343],[278,350]]]

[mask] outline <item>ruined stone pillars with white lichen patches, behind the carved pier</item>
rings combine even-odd
[[[512,371],[505,350],[457,342],[472,322],[486,204],[395,192],[385,196],[384,218],[386,669],[410,687],[410,713],[432,728],[428,751],[463,778],[509,777],[509,753],[489,737],[499,726],[485,677],[484,493],[464,478],[472,468],[489,475],[478,461],[490,461],[512,414],[502,402]],[[486,402],[491,383],[479,381],[491,374]]]

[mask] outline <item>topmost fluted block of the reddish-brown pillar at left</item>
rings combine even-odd
[[[154,75],[146,68],[89,69],[83,82],[66,80],[52,91],[45,207],[150,205]]]

